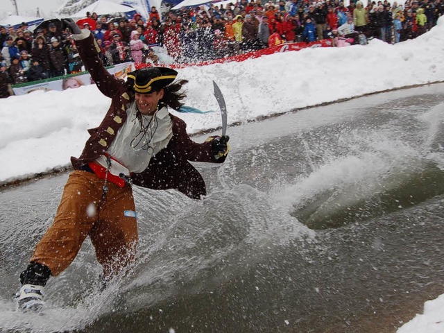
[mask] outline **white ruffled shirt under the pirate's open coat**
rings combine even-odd
[[[168,108],[157,110],[153,116],[142,115],[144,131],[137,119],[137,108],[135,101],[126,110],[128,118],[123,126],[119,128],[114,141],[106,151],[113,159],[111,160],[110,173],[119,176],[124,173],[139,173],[148,167],[153,155],[165,148],[171,137],[173,137],[173,121],[168,114]],[[155,119],[152,119],[155,117]],[[149,148],[148,148],[149,147]],[[96,160],[102,167],[107,168],[106,157],[102,155]]]

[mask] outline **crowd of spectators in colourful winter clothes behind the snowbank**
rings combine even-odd
[[[425,33],[444,12],[441,0],[407,0],[404,6],[388,0],[366,6],[341,0],[240,0],[223,6],[197,6],[160,15],[151,8],[148,19],[139,14],[99,17],[87,14],[89,28],[100,46],[105,66],[121,62],[151,63],[159,57],[153,46],[164,46],[175,62],[225,58],[284,42],[315,42],[364,35],[397,43]],[[333,46],[341,46],[333,42]],[[0,85],[52,78],[81,71],[82,62],[68,31],[49,24],[31,33],[0,26]],[[0,92],[5,95],[7,92]]]

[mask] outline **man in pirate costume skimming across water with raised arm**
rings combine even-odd
[[[150,189],[178,189],[190,198],[205,196],[205,182],[188,162],[225,161],[228,137],[193,142],[186,124],[169,113],[179,110],[186,80],[174,82],[177,72],[145,67],[115,78],[99,58],[99,47],[87,29],[64,20],[85,68],[112,103],[80,157],[71,157],[69,175],[53,225],[37,244],[28,267],[20,275],[21,309],[40,309],[44,287],[74,260],[90,237],[103,266],[104,280],[119,274],[135,258],[137,214],[131,185]]]

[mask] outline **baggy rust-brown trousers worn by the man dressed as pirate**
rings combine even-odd
[[[133,261],[137,220],[133,191],[108,182],[102,198],[101,180],[87,171],[69,175],[53,225],[37,244],[31,262],[44,264],[53,276],[74,260],[89,236],[105,277],[119,273]]]

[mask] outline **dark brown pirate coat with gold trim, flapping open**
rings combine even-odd
[[[71,157],[74,169],[81,169],[108,150],[126,121],[126,109],[135,98],[133,89],[124,80],[114,77],[103,67],[92,35],[76,41],[76,46],[99,90],[112,100],[100,126],[88,130],[91,136],[80,157]],[[133,174],[133,184],[150,189],[178,189],[190,198],[200,198],[206,194],[205,182],[188,161],[221,163],[225,157],[216,160],[212,142],[193,142],[187,135],[185,121],[173,114],[169,116],[173,122],[173,137],[166,148],[151,158],[144,171]]]

